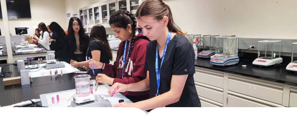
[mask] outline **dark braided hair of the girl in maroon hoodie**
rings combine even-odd
[[[129,49],[129,52],[128,52],[128,55],[127,55],[127,59],[124,63],[124,70],[123,70],[123,77],[124,77],[124,71],[129,63],[129,59],[130,59],[130,56],[131,56],[131,52],[132,52],[132,49],[133,49],[133,44],[134,44],[134,41],[135,41],[135,33],[136,33],[136,28],[137,28],[137,22],[136,22],[136,18],[127,10],[119,10],[119,11],[116,11],[114,12],[111,16],[110,16],[110,20],[109,20],[109,24],[110,25],[114,25],[115,27],[118,27],[118,28],[124,28],[126,29],[127,28],[127,25],[131,25],[132,26],[132,39],[130,41],[130,49]],[[124,41],[122,42],[122,44],[124,44]],[[125,46],[122,45],[121,47],[121,52],[119,54],[119,57],[118,57],[118,62],[120,62],[120,59],[124,53],[124,48]],[[118,73],[119,69],[117,70],[117,77],[119,77],[119,73]]]

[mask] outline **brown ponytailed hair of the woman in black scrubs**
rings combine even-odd
[[[162,0],[146,0],[137,9],[136,17],[151,16],[157,21],[162,20],[164,16],[168,17],[168,29],[173,33],[185,36],[181,29],[174,23],[170,7]]]

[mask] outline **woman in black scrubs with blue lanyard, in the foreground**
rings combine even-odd
[[[116,94],[150,89],[151,99],[136,103],[122,102],[113,107],[136,107],[141,110],[164,106],[201,107],[193,77],[194,49],[174,24],[170,7],[162,0],[146,0],[138,7],[136,17],[143,35],[151,40],[147,45],[144,66],[148,70],[147,78],[127,85],[115,83],[108,93],[111,94],[115,87],[118,87]]]

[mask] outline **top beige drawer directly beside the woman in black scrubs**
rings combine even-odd
[[[196,69],[194,81],[210,86],[224,88],[224,74]]]

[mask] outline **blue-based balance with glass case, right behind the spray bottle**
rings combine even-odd
[[[203,35],[203,51],[198,54],[198,57],[209,58],[215,54],[215,37],[220,35]],[[210,38],[209,40],[208,37]],[[209,48],[207,47],[209,46]]]

